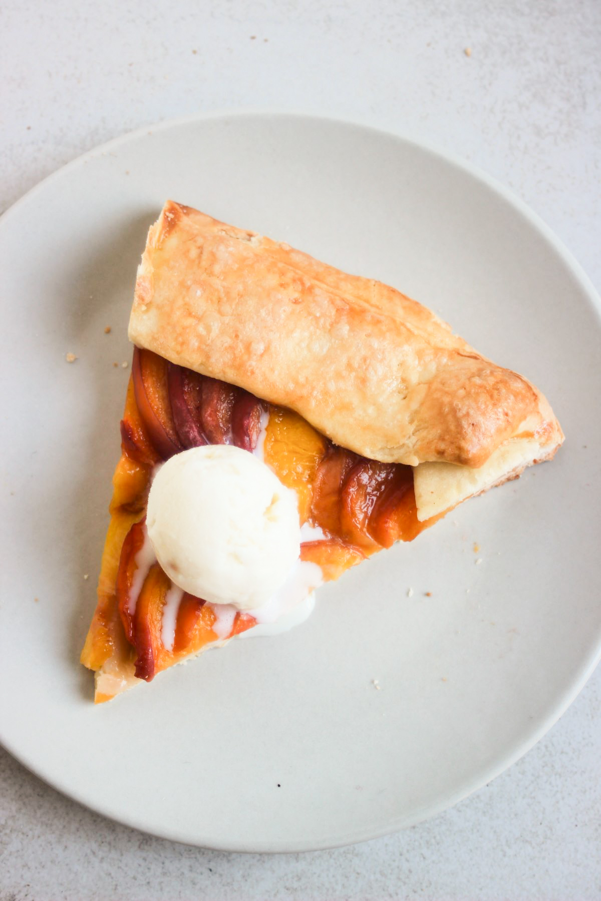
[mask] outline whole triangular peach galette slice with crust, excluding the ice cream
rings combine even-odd
[[[260,454],[296,490],[316,587],[563,441],[537,388],[414,300],[172,201],[150,228],[129,335],[122,457],[81,656],[96,703],[256,625],[182,592],[153,556],[150,483],[179,451]]]

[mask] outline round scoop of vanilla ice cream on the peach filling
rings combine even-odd
[[[298,559],[296,492],[225,444],[171,457],[155,476],[146,526],[168,577],[213,604],[266,604]]]

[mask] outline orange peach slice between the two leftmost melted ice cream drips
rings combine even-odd
[[[171,581],[155,563],[144,579],[133,617],[133,644],[138,656],[135,660],[135,675],[150,682],[160,666],[163,649],[161,639],[163,605]]]

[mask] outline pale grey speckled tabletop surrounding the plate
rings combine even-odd
[[[249,105],[300,109],[405,132],[485,168],[601,286],[597,0],[379,0],[369,13],[361,0],[5,0],[0,32],[0,209],[139,125]],[[59,796],[0,751],[0,899],[598,898],[600,687],[597,671],[524,760],[446,814],[305,855],[149,838]]]

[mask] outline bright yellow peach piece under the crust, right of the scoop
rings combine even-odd
[[[295,489],[302,523],[311,510],[315,475],[326,447],[323,435],[301,416],[282,407],[269,407],[265,462],[284,485]]]

